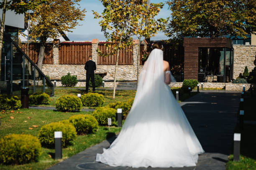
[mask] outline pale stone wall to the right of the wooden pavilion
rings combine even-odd
[[[234,73],[233,78],[243,74],[244,68],[248,67],[248,72],[251,72],[255,65],[253,61],[256,58],[256,45],[233,45],[234,48]]]

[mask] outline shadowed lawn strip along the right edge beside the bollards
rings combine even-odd
[[[256,97],[251,94],[244,97],[244,120],[256,122]],[[241,133],[241,156],[239,162],[233,162],[233,155],[229,156],[227,170],[256,170],[256,124],[244,124],[243,130],[236,126],[235,132]]]

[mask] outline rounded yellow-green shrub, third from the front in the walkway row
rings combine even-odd
[[[74,115],[69,117],[69,122],[74,125],[79,135],[96,133],[99,128],[97,120],[92,115]]]

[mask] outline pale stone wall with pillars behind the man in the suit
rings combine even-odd
[[[86,70],[84,70],[84,65],[61,65],[59,64],[59,40],[54,40],[53,47],[53,63],[54,64],[44,64],[42,67],[42,72],[45,75],[49,75],[51,79],[61,79],[63,75],[67,75],[70,72],[71,75],[77,75],[78,80],[86,79]],[[97,65],[97,47],[99,40],[92,40],[92,60],[96,62],[95,73],[106,73],[103,80],[114,80],[115,76],[115,65]],[[145,43],[143,41],[142,43]],[[138,40],[134,41],[133,46],[133,65],[118,65],[117,70],[117,80],[137,80],[137,51],[138,51]],[[146,46],[145,46],[146,47]],[[139,73],[142,66],[139,66]],[[58,83],[58,82],[57,82]],[[83,83],[79,83],[79,87],[82,87]]]

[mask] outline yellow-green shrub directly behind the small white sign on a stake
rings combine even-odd
[[[115,122],[116,110],[110,107],[97,107],[92,115],[99,122],[100,125],[108,125],[108,118]]]

